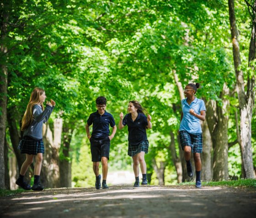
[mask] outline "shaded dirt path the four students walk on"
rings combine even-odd
[[[0,198],[1,218],[256,217],[256,190],[127,185],[58,188]]]

